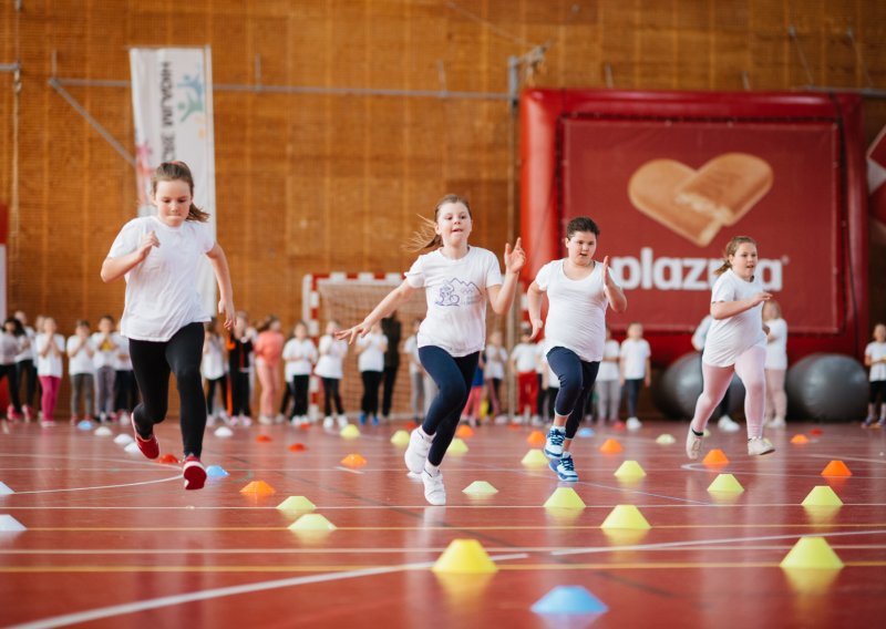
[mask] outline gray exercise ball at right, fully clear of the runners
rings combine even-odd
[[[856,422],[867,413],[867,372],[852,357],[814,353],[787,370],[789,415],[820,422]]]

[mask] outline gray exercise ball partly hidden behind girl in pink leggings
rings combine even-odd
[[[673,361],[652,390],[652,399],[662,413],[672,419],[692,419],[701,394],[701,354],[690,352]],[[744,404],[744,386],[736,375],[729,385],[729,412]]]

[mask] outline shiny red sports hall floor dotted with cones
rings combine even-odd
[[[113,436],[59,425],[4,425],[0,514],[27,527],[0,533],[0,625],[21,627],[875,627],[886,616],[886,431],[791,425],[770,435],[777,451],[751,458],[743,433],[713,429],[705,451],[723,467],[688,464],[686,424],[648,422],[576,442],[584,509],[546,509],[557,488],[547,468],[521,460],[529,429],[481,427],[470,451],[444,461],[449,504],[431,507],[406,477],[395,427],[356,440],[319,427],[207,430],[204,461],[228,477],[182,488],[177,467],[130,454]],[[126,432],[114,426],[114,434]],[[158,429],[178,453],[174,421]],[[677,443],[659,445],[669,432]],[[804,432],[805,445],[790,443]],[[271,437],[258,442],[259,434]],[[601,454],[606,437],[620,454]],[[303,452],[287,446],[301,442]],[[348,454],[360,470],[340,465]],[[647,476],[614,472],[637,461]],[[825,478],[842,460],[851,477]],[[743,485],[715,495],[718,473]],[[264,481],[266,497],[240,489]],[[486,481],[498,493],[462,489]],[[842,507],[801,506],[828,485]],[[2,489],[2,487],[0,487]],[[305,496],[337,526],[298,534]],[[649,530],[604,530],[617,505],[636,505]],[[8,518],[3,518],[7,524]],[[792,569],[781,560],[801,536],[822,536],[842,569]],[[456,538],[478,540],[492,575],[437,575],[431,566]],[[552,588],[584,586],[608,611],[552,617],[532,606]]]

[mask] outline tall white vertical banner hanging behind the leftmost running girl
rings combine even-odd
[[[151,205],[151,175],[163,162],[184,162],[194,175],[194,204],[209,213],[216,235],[215,137],[212,51],[205,48],[130,49],[135,118],[138,215]],[[215,276],[208,260],[198,271],[204,307],[216,312]]]

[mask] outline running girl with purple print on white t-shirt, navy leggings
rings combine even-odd
[[[514,250],[505,245],[505,279],[492,251],[471,247],[473,226],[467,202],[444,196],[434,210],[434,220],[416,235],[419,256],[406,278],[392,290],[363,322],[337,334],[353,341],[365,337],[372,326],[390,314],[419,288],[425,289],[427,317],[419,328],[419,357],[440,392],[424,423],[412,431],[405,453],[406,467],[421,474],[424,497],[432,505],[446,504],[440,464],[446,453],[467,402],[480,352],[486,340],[486,300],[504,314],[511,309],[517,276],[526,256],[517,239]],[[431,231],[433,228],[433,231]]]

